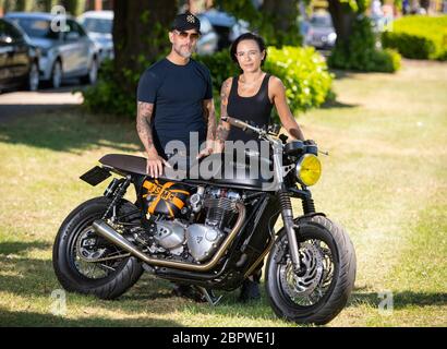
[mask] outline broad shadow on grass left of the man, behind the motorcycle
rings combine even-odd
[[[135,152],[140,146],[131,120],[92,116],[81,108],[0,123],[0,142],[72,153],[99,146]]]

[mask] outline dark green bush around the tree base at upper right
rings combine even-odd
[[[370,19],[357,19],[347,43],[337,41],[329,57],[329,65],[363,72],[394,73],[400,69],[400,55],[391,49],[379,50]]]

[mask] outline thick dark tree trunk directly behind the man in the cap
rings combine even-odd
[[[168,28],[177,13],[176,0],[113,1],[116,79],[134,93],[137,77],[170,47]]]

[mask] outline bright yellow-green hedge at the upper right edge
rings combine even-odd
[[[413,59],[447,59],[447,15],[410,15],[394,22],[382,35],[384,47]]]

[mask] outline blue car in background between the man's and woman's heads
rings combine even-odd
[[[216,9],[208,10],[201,14],[201,20],[205,17],[213,25],[219,36],[218,50],[227,48],[234,41],[238,36],[249,32],[249,23],[243,20],[237,20],[226,12]]]

